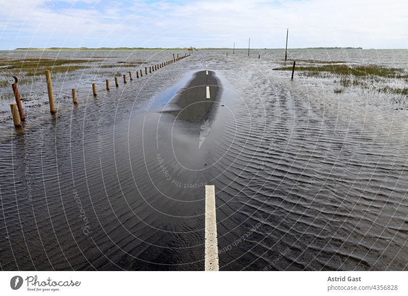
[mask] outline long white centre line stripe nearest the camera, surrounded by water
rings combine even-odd
[[[215,218],[215,188],[206,185],[205,271],[218,271],[217,220]]]

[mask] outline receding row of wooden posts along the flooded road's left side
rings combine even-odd
[[[190,55],[190,54],[189,54]],[[174,56],[173,54],[173,58],[169,61],[166,61],[164,63],[160,63],[154,66],[149,66],[149,72],[154,72],[157,71],[165,66],[168,66],[170,64],[173,64],[175,62],[178,62],[180,60],[182,60],[183,58],[187,57],[187,53],[184,54],[184,56],[179,56],[179,54],[177,54],[177,57]],[[132,71],[129,71],[129,78],[130,80],[133,80],[133,75],[132,75]],[[140,73],[140,76],[139,76]],[[147,67],[144,67],[144,74],[147,75]],[[142,77],[143,76],[143,70],[140,69],[139,71],[136,71],[136,78]],[[49,111],[51,113],[56,113],[56,109],[55,109],[55,104],[54,104],[54,92],[53,92],[53,84],[52,84],[52,80],[51,80],[51,72],[49,70],[45,71],[45,80],[47,83],[47,92],[48,92],[48,101],[49,101]],[[21,101],[20,101],[20,95],[18,94],[18,89],[17,89],[17,77],[11,77],[9,79],[9,82],[12,83],[12,87],[13,87],[13,93],[14,93],[14,97],[16,99],[16,103],[12,103],[10,104],[10,108],[11,108],[11,114],[13,117],[13,123],[15,127],[21,127],[21,121],[25,121],[25,116],[24,116],[24,111],[22,109],[22,105],[21,105]],[[126,80],[126,74],[123,74],[123,83],[127,83]],[[119,82],[118,82],[118,77],[115,77],[115,85],[116,87],[119,87]],[[106,79],[106,90],[109,91],[109,79]],[[96,83],[92,83],[92,93],[93,96],[96,97]],[[78,100],[77,100],[77,90],[75,88],[72,88],[72,102],[73,104],[78,104]]]

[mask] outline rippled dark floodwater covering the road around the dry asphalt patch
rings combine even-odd
[[[192,123],[171,110],[201,70],[219,98]],[[407,269],[406,111],[243,56],[145,78],[10,124],[3,270],[203,270],[206,184],[220,270]]]

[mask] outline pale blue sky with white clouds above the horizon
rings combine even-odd
[[[408,48],[408,1],[0,0],[0,49]]]

